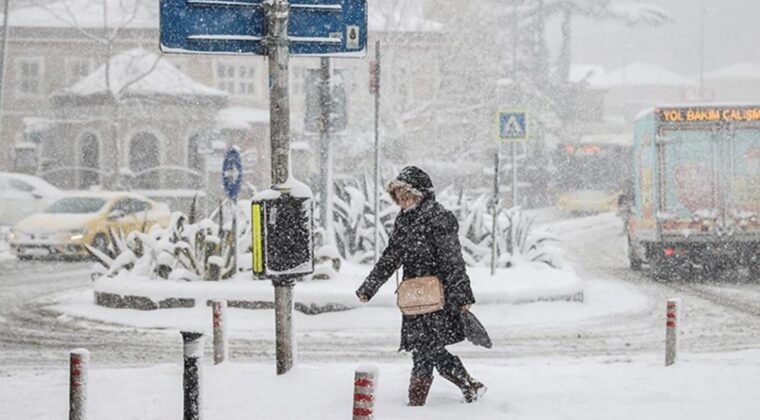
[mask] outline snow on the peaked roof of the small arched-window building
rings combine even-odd
[[[89,76],[64,89],[64,93],[89,96],[110,89],[114,95],[227,96],[224,91],[191,79],[158,54],[141,48],[113,56],[109,63],[110,86],[106,84],[106,65],[103,64]],[[120,92],[122,90],[125,91]]]

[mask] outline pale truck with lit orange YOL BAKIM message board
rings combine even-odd
[[[631,268],[670,279],[747,267],[760,280],[760,105],[651,109],[631,156]]]

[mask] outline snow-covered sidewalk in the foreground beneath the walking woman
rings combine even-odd
[[[207,358],[208,359],[208,358]],[[202,371],[202,418],[350,418],[359,363],[299,364],[277,376],[273,364],[212,366]],[[462,403],[437,377],[425,407],[407,407],[407,363],[379,364],[377,419],[750,420],[760,412],[760,351],[683,355],[665,367],[659,356],[518,359],[468,363],[489,387]],[[182,417],[180,363],[133,369],[92,369],[89,418]],[[0,415],[7,419],[65,418],[65,371],[0,378]]]

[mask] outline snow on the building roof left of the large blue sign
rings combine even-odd
[[[13,10],[9,26],[43,28],[158,28],[154,0],[62,0]]]

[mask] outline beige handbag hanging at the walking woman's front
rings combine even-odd
[[[414,277],[396,289],[396,304],[404,315],[422,315],[443,309],[443,283],[438,277]]]

